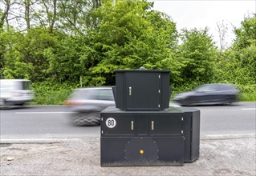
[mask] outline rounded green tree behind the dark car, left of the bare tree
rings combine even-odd
[[[189,84],[211,82],[217,48],[208,29],[182,30],[181,41],[179,54],[184,64],[181,71],[183,81]]]

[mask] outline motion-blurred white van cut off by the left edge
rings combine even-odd
[[[31,82],[26,79],[0,79],[0,106],[23,106],[34,98]]]

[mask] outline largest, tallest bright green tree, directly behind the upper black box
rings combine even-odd
[[[167,68],[177,45],[175,24],[146,1],[104,1],[95,10],[100,25],[90,30],[83,59],[92,61],[91,83],[113,85],[115,69]],[[169,68],[169,67],[168,67]],[[174,72],[175,73],[175,72]]]

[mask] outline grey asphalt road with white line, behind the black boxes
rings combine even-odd
[[[201,138],[256,131],[256,102],[195,106],[201,110]],[[1,140],[100,137],[100,126],[73,126],[66,106],[26,106],[1,110]]]

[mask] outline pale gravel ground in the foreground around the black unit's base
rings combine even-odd
[[[184,166],[100,166],[100,138],[1,144],[1,175],[256,175],[255,137],[203,139]]]

